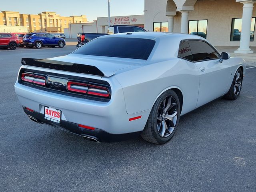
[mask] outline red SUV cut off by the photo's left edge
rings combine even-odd
[[[0,33],[0,48],[3,49],[16,49],[17,46],[19,46],[19,40],[18,38],[11,33]]]

